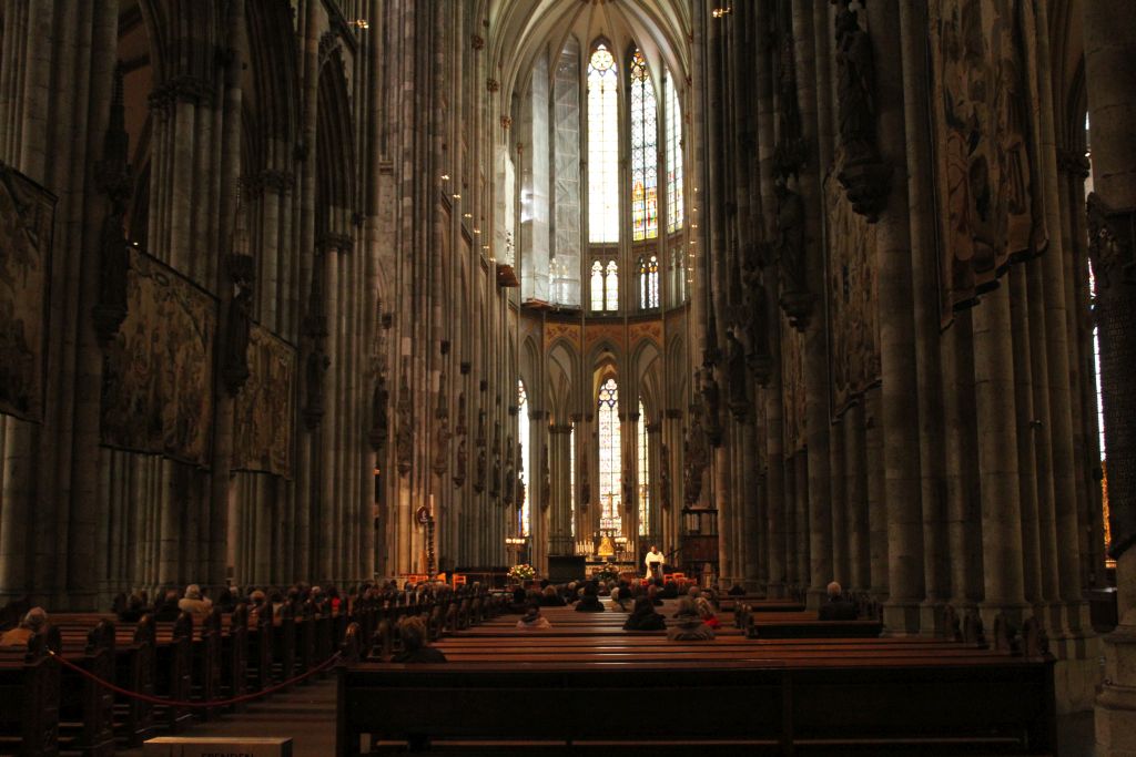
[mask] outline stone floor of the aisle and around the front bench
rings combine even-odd
[[[335,754],[335,680],[327,679],[291,691],[274,695],[265,703],[249,705],[244,713],[227,715],[219,721],[200,723],[190,730],[189,737],[291,737],[293,757],[331,757]],[[1058,740],[1061,757],[1095,757],[1093,747],[1093,714],[1078,713],[1058,718]],[[699,755],[704,749],[694,745],[675,745],[671,749],[651,747],[652,754]],[[626,754],[626,746],[616,751]],[[443,751],[440,749],[438,751]],[[498,748],[476,754],[566,754],[561,750],[540,746]],[[602,754],[602,747],[590,750]],[[636,750],[637,751],[637,750]],[[118,752],[127,757],[141,757],[141,749]],[[453,754],[450,751],[449,754]],[[462,755],[469,752],[462,751]],[[744,752],[735,752],[744,754]],[[936,752],[939,754],[939,752]],[[972,752],[971,752],[972,754]]]

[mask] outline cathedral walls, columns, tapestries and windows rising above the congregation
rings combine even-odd
[[[0,3],[0,604],[657,545],[1033,619],[1136,754],[1134,60],[1129,0]]]

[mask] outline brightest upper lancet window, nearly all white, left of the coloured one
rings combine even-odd
[[[600,42],[587,64],[587,236],[619,242],[619,100],[616,59]]]

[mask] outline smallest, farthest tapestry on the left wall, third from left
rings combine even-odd
[[[262,326],[249,331],[249,379],[234,402],[233,470],[292,478],[295,347]]]

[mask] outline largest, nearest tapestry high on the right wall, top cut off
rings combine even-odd
[[[941,320],[1045,249],[1020,0],[930,0]]]

